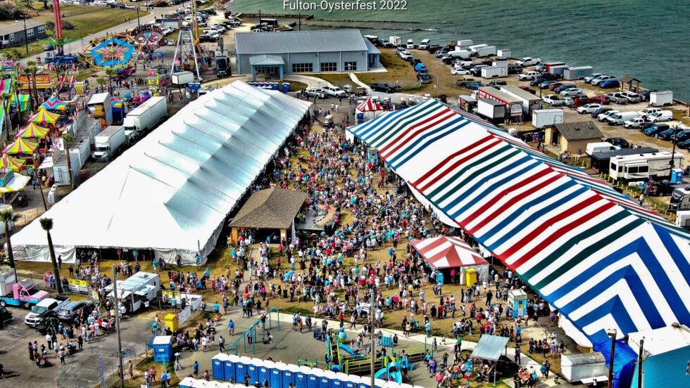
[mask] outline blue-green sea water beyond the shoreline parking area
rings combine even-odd
[[[297,1],[321,5],[355,0],[287,0],[289,4]],[[688,0],[408,0],[406,10],[387,11],[380,9],[380,1],[375,4],[376,11],[294,11],[284,9],[283,0],[234,0],[230,9],[363,20],[332,24],[357,27],[363,34],[379,37],[399,35],[415,42],[427,38],[444,45],[473,39],[475,44],[510,48],[513,56],[591,65],[596,72],[618,77],[632,75],[641,79],[643,87],[672,90],[677,98],[690,100]]]

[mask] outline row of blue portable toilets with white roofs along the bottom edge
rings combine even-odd
[[[330,370],[318,368],[308,368],[306,366],[296,366],[259,358],[249,358],[246,356],[228,356],[219,353],[211,358],[212,372],[214,380],[232,381],[233,384],[211,382],[220,385],[204,384],[203,387],[232,387],[238,384],[244,386],[246,376],[249,376],[249,385],[258,382],[263,386],[263,382],[268,381],[271,388],[372,388],[370,377],[360,377],[356,375],[346,375],[335,373]],[[202,385],[191,384],[192,380],[183,380],[181,388],[199,388]],[[199,381],[199,380],[195,380]],[[203,380],[201,380],[203,381]],[[185,383],[185,384],[183,384]],[[203,381],[206,383],[206,381]],[[203,384],[198,383],[198,384]],[[400,384],[396,382],[386,382],[376,379],[375,388],[413,388],[410,384]],[[421,387],[414,387],[421,388]]]

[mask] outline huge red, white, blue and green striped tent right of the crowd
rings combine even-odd
[[[690,235],[606,182],[434,100],[349,131],[595,348],[690,324]]]

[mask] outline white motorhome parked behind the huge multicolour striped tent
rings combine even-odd
[[[624,182],[664,179],[671,172],[671,159],[674,166],[683,165],[683,155],[670,151],[612,157],[608,174],[614,181]]]

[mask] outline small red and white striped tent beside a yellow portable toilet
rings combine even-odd
[[[473,250],[462,238],[441,236],[416,240],[412,246],[434,269],[456,269],[460,271],[460,284],[466,283],[467,270],[477,270],[477,279],[489,276],[489,262]]]

